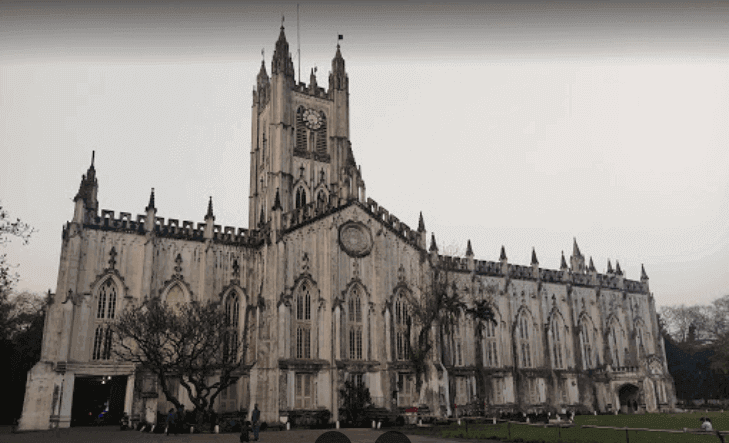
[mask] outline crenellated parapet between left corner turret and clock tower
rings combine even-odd
[[[146,233],[144,225],[147,222],[146,214],[138,214],[136,220],[132,219],[129,212],[120,212],[116,218],[114,211],[103,209],[100,217],[87,217],[84,228],[100,229],[108,231],[127,232],[144,235]],[[175,218],[167,219],[165,223],[164,217],[155,217],[154,232],[159,237],[176,238],[190,241],[205,241],[205,222],[197,223],[190,220],[180,220]],[[236,244],[255,246],[260,243],[260,235],[257,231],[249,231],[244,228],[235,228],[232,226],[222,227],[221,225],[213,225],[213,238],[216,243]]]

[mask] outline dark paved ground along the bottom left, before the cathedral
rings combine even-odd
[[[262,432],[261,443],[315,443],[316,439],[328,430],[293,430],[282,432]],[[371,429],[340,429],[351,443],[375,443],[377,438],[386,430]],[[455,443],[466,440],[442,439],[408,435],[411,443]],[[69,443],[126,443],[126,442],[221,442],[238,443],[238,434],[181,434],[165,436],[163,434],[148,434],[137,431],[120,431],[117,426],[88,427],[63,429],[59,432],[26,432],[10,434],[7,429],[0,430],[0,442],[30,443],[30,442],[69,442]],[[484,440],[479,440],[484,442]],[[333,443],[333,442],[330,442]]]

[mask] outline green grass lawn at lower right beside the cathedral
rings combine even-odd
[[[554,427],[530,426],[526,424],[511,424],[511,439],[520,438],[522,441],[544,441],[562,443],[650,443],[650,442],[681,442],[681,443],[709,443],[718,442],[716,435],[694,435],[684,433],[651,432],[640,429],[614,430],[614,429],[592,429],[582,428],[584,425],[614,426],[628,428],[647,429],[674,429],[683,428],[698,429],[701,425],[699,418],[708,416],[714,425],[714,429],[722,431],[729,430],[729,413],[681,413],[681,414],[645,414],[645,415],[598,415],[598,416],[577,416],[576,426],[573,428],[558,429]],[[433,429],[433,434],[442,438],[473,438],[488,439],[497,437],[507,439],[509,437],[509,426],[506,423],[496,425],[465,425],[442,427]],[[433,435],[431,434],[431,435]]]

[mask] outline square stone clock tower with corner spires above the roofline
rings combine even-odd
[[[339,45],[328,89],[296,83],[284,28],[271,77],[261,62],[251,109],[249,227],[270,219],[279,193],[284,213],[306,205],[365,200],[365,185],[349,140],[349,78]]]

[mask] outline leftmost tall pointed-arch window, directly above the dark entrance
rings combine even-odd
[[[92,284],[92,294],[91,360],[110,360],[114,345],[111,326],[124,309],[126,288],[121,277],[110,271]]]

